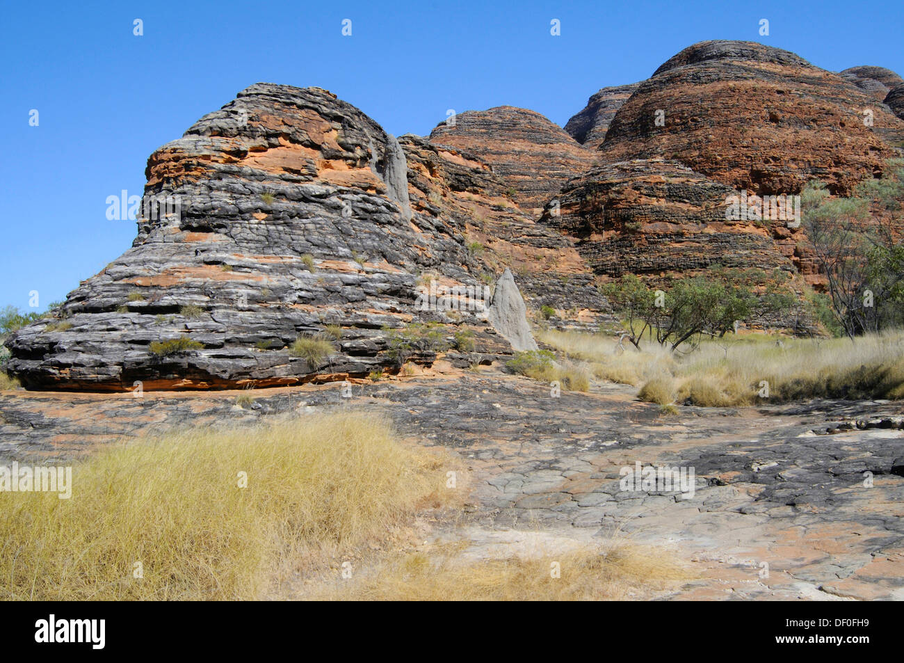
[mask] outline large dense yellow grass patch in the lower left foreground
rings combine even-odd
[[[0,600],[267,598],[452,492],[447,459],[397,438],[341,413],[111,445],[75,465],[71,499],[0,492]]]

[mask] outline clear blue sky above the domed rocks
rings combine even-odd
[[[41,2],[0,25],[0,307],[64,298],[135,238],[108,195],[258,81],[332,90],[387,131],[512,105],[564,124],[685,46],[743,39],[839,71],[904,74],[900,0],[850,2]],[[344,19],[352,35],[342,34]],[[769,21],[760,36],[759,21]],[[135,19],[144,35],[133,34]],[[560,36],[550,34],[552,19]],[[29,126],[37,109],[39,124]]]

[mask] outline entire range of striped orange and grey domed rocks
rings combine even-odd
[[[423,365],[492,362],[529,345],[486,321],[506,270],[528,317],[591,328],[612,321],[599,281],[626,272],[818,285],[799,228],[727,220],[727,199],[881,175],[904,146],[898,80],[704,42],[599,90],[568,132],[504,106],[398,139],[326,90],[252,85],[150,156],[132,248],[8,338],[8,370],[32,388],[208,389],[358,379],[398,368],[400,343]]]

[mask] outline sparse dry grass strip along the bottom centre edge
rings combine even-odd
[[[463,545],[400,555],[360,579],[337,581],[306,598],[339,601],[605,601],[661,590],[689,574],[641,545],[583,546],[561,554],[468,559]],[[553,577],[553,563],[559,577]]]

